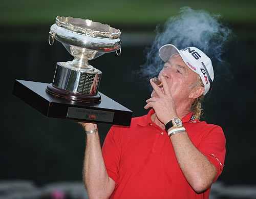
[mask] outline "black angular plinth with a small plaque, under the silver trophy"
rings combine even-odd
[[[130,126],[133,112],[100,92],[101,102],[90,104],[55,97],[46,92],[47,85],[15,80],[13,94],[47,117]]]

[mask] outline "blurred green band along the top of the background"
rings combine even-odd
[[[221,14],[224,20],[236,24],[256,21],[256,1],[67,1],[67,0],[2,0],[1,25],[41,25],[54,23],[56,16],[74,16],[99,20],[107,24],[158,24],[177,15],[181,7],[204,9]]]

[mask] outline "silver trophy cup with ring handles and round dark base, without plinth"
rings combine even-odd
[[[74,56],[72,61],[57,62],[54,79],[46,88],[52,95],[69,100],[99,103],[98,87],[101,71],[88,60],[119,50],[120,30],[89,19],[56,17],[49,32],[49,43],[61,42]]]

